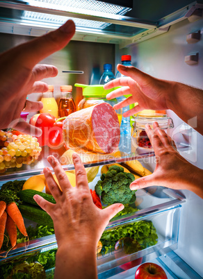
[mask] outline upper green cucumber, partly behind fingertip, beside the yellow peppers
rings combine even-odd
[[[33,196],[35,196],[35,195],[42,196],[42,198],[49,201],[50,203],[56,203],[54,196],[52,196],[50,194],[45,194],[45,193],[42,193],[40,191],[36,191],[33,189],[26,189],[26,190],[17,192],[17,196],[19,197],[19,199],[21,201],[24,201],[25,203],[30,203],[31,205],[36,205],[39,207],[38,203],[36,203],[35,200],[33,199]]]

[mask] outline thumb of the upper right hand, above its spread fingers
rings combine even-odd
[[[143,71],[140,71],[136,67],[133,66],[124,66],[121,64],[117,65],[117,70],[120,71],[124,76],[129,76],[133,78],[139,85],[145,86],[152,81],[152,76],[145,74]]]

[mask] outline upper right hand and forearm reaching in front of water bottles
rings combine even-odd
[[[169,109],[186,123],[194,119],[193,128],[203,135],[203,90],[175,81],[154,78],[133,66],[117,65],[117,69],[127,77],[116,78],[106,83],[104,89],[122,86],[106,95],[107,99],[131,94],[129,98],[114,105],[115,110],[118,110],[136,103],[134,108],[124,112],[124,117],[134,115],[141,110]]]

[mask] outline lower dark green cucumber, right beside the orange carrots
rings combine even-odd
[[[22,214],[22,217],[34,221],[39,225],[54,228],[54,223],[46,211],[38,208],[35,205],[30,205],[29,203],[20,204],[18,208]]]

